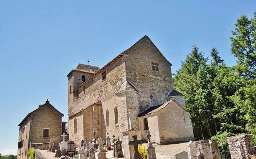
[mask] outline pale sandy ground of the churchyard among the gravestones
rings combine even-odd
[[[157,159],[174,159],[173,155],[181,152],[186,151],[188,152],[188,142],[186,143],[180,143],[180,144],[171,144],[171,145],[156,145],[153,144],[156,151],[156,158]],[[54,158],[55,153],[53,152],[47,152],[47,150],[38,150],[43,157],[46,159],[57,159]],[[95,157],[98,159],[97,152],[95,152]],[[114,159],[113,157],[113,150],[112,151],[106,151],[107,159]],[[124,158],[120,158],[124,159]]]

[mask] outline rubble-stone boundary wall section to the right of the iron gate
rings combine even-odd
[[[231,159],[250,159],[247,153],[256,153],[252,135],[231,136],[227,140]]]

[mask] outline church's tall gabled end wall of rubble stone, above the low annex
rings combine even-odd
[[[127,81],[139,91],[140,112],[149,106],[168,101],[168,93],[173,86],[170,63],[156,46],[145,36],[124,52]],[[159,71],[152,70],[151,61],[159,64]],[[150,93],[156,93],[156,100]]]

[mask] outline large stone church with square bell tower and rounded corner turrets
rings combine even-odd
[[[79,63],[67,75],[69,139],[77,145],[86,136],[92,141],[95,129],[96,138],[109,133],[121,141],[128,130],[145,142],[150,133],[157,144],[194,140],[185,96],[174,89],[170,66],[147,36],[101,69]]]

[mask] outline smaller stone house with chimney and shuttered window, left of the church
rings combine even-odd
[[[30,147],[33,147],[33,144],[41,146],[41,148],[36,148],[48,149],[49,144],[47,143],[50,142],[51,138],[58,146],[62,131],[65,132],[66,122],[62,122],[63,116],[50,104],[48,99],[45,104],[39,105],[33,112],[28,113],[18,125],[20,128],[17,159],[28,158],[27,151]]]

